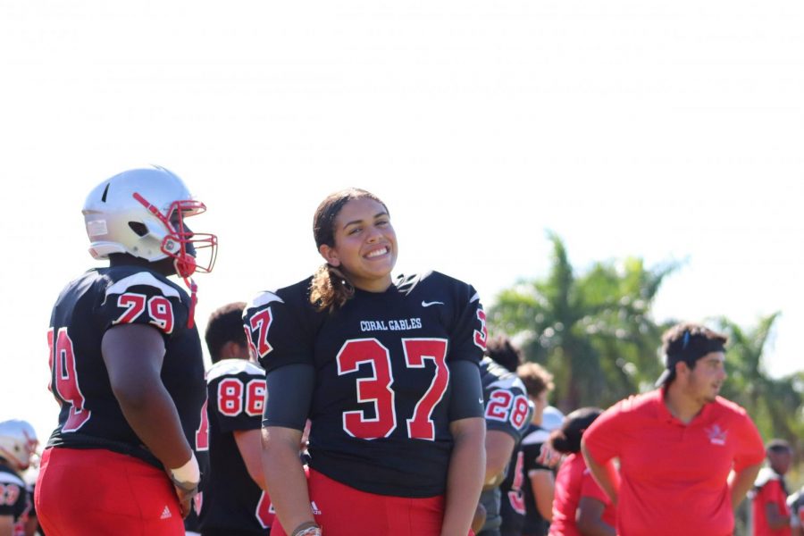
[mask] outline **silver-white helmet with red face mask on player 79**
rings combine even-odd
[[[84,203],[89,253],[96,259],[128,253],[148,262],[170,256],[185,279],[193,272],[211,272],[217,237],[194,233],[184,224],[205,210],[184,182],[163,167],[121,172],[93,188]],[[203,248],[208,249],[206,262],[198,264],[197,250]]]

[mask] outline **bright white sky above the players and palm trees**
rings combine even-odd
[[[0,3],[0,417],[46,438],[46,329],[95,263],[80,207],[160,163],[221,241],[216,306],[319,264],[315,205],[389,205],[398,270],[487,305],[572,262],[687,259],[655,313],[782,311],[770,369],[804,367],[804,4],[691,0]]]

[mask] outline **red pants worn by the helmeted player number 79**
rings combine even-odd
[[[34,493],[47,536],[181,536],[167,474],[105,449],[47,448]]]

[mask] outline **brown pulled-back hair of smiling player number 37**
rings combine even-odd
[[[347,188],[330,194],[315,209],[313,217],[315,247],[320,248],[323,244],[335,247],[335,219],[340,210],[349,201],[363,197],[373,199],[385,208],[386,213],[389,213],[388,207],[379,197],[364,189]],[[341,307],[354,295],[355,287],[349,282],[346,274],[328,263],[318,268],[310,283],[310,303],[319,311]]]

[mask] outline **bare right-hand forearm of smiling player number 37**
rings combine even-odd
[[[483,485],[486,427],[481,417],[472,417],[451,423],[450,430],[455,445],[449,458],[441,535],[463,536],[469,532]]]

